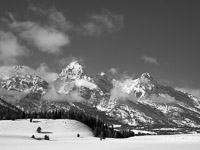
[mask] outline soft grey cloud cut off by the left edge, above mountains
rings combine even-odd
[[[25,54],[26,47],[19,43],[14,34],[0,30],[0,61],[3,62],[3,64],[16,64],[16,58]]]

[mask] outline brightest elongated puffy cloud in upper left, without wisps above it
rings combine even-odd
[[[70,39],[66,34],[50,26],[41,26],[30,21],[15,21],[10,24],[10,27],[17,30],[20,37],[28,41],[29,44],[43,52],[58,54],[63,46],[70,43]]]

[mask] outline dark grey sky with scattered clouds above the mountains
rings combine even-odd
[[[200,97],[196,0],[1,0],[0,65],[138,77]]]

